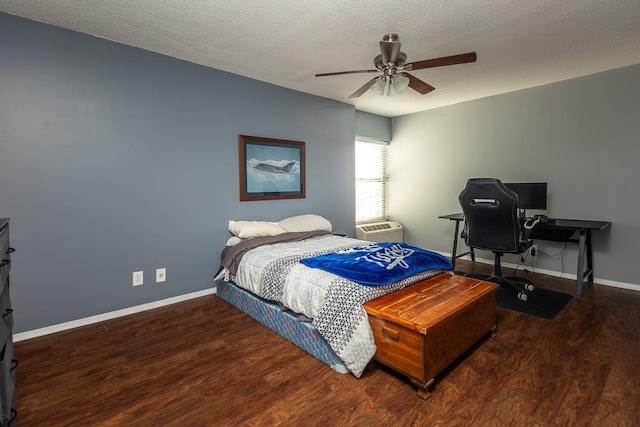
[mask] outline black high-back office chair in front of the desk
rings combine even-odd
[[[511,288],[526,301],[525,290],[533,291],[533,283],[524,277],[503,276],[500,265],[503,254],[522,254],[533,245],[530,229],[518,215],[518,195],[499,179],[474,178],[467,181],[458,200],[465,218],[462,237],[467,246],[495,254],[493,274],[473,276]]]

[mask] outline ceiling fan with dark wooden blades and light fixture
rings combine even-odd
[[[409,86],[422,95],[431,92],[435,88],[423,82],[407,71],[421,70],[423,68],[443,67],[445,65],[465,64],[476,61],[476,53],[469,52],[460,55],[444,56],[442,58],[425,59],[424,61],[407,63],[407,55],[400,52],[400,37],[397,34],[385,34],[380,42],[380,55],[373,60],[375,70],[337,71],[333,73],[320,73],[316,77],[337,76],[340,74],[357,73],[382,73],[372,78],[349,98],[357,98],[369,89],[373,89],[379,95],[388,96],[400,94]]]

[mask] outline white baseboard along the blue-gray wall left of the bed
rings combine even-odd
[[[178,295],[177,297],[167,298],[160,301],[153,301],[147,304],[137,305],[135,307],[123,308],[122,310],[111,311],[109,313],[98,314],[96,316],[85,317],[84,319],[72,320],[70,322],[59,323],[57,325],[47,326],[40,329],[34,329],[32,331],[20,332],[13,335],[13,342],[24,341],[32,338],[41,337],[44,335],[55,334],[56,332],[62,332],[80,326],[87,326],[93,323],[103,322],[105,320],[116,319],[122,316],[128,316],[130,314],[140,313],[154,308],[164,307],[166,305],[175,304],[182,301],[187,301],[193,298],[203,297],[205,295],[211,295],[216,293],[216,288],[205,289],[203,291],[192,292],[190,294]]]

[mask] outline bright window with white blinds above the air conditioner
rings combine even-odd
[[[387,144],[356,140],[356,222],[387,219]]]

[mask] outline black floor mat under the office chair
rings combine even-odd
[[[543,319],[553,319],[573,298],[569,294],[540,288],[527,292],[527,297],[526,301],[520,301],[514,291],[500,287],[496,293],[496,304]]]

